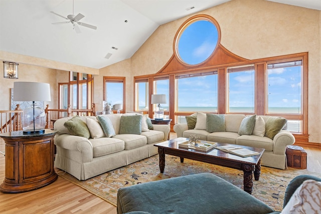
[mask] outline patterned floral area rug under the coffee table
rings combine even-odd
[[[171,155],[166,155],[164,173],[159,172],[157,154],[84,181],[79,181],[63,171],[58,172],[58,174],[116,206],[117,189],[121,187],[202,172],[216,174],[243,189],[243,171],[189,159],[184,159],[184,163],[181,163],[179,157]],[[321,174],[308,172],[305,169],[288,168],[281,170],[262,166],[260,179],[258,181],[253,180],[252,195],[276,211],[280,211],[283,207],[283,197],[287,184],[292,178],[300,174],[321,177]]]

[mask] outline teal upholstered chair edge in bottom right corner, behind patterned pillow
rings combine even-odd
[[[286,187],[285,193],[284,193],[284,200],[283,200],[283,207],[287,204],[287,202],[290,200],[292,194],[295,192],[295,190],[303,183],[304,180],[316,180],[321,181],[320,177],[315,177],[312,175],[302,174],[294,177]]]

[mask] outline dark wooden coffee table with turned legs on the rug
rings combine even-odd
[[[162,143],[154,144],[154,146],[158,147],[159,169],[161,170],[161,173],[164,172],[165,168],[165,154],[180,157],[182,163],[184,162],[184,158],[188,158],[229,168],[240,169],[243,171],[244,190],[250,194],[252,193],[253,174],[255,180],[259,180],[261,174],[261,156],[265,149],[237,145],[260,153],[260,155],[255,156],[240,157],[215,148],[206,152],[190,148],[179,147],[179,143],[185,142],[187,140],[189,139],[179,137]],[[218,143],[218,146],[223,145],[228,144]]]

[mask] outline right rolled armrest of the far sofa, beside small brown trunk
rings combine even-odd
[[[287,130],[281,130],[273,138],[273,153],[284,154],[286,146],[292,145],[295,142],[294,136]]]

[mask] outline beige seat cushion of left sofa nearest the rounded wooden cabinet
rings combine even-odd
[[[122,151],[125,148],[124,141],[116,138],[101,137],[90,139],[90,142],[92,144],[94,157]]]

